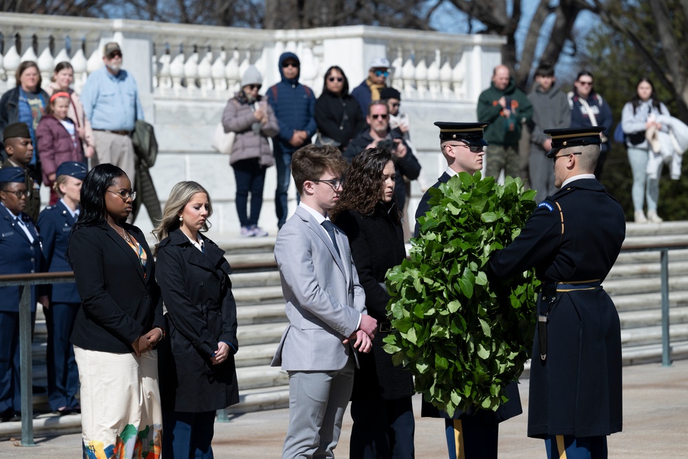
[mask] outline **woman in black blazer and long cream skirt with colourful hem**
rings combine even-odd
[[[134,198],[122,169],[94,167],[81,186],[81,211],[69,239],[67,255],[81,297],[72,344],[84,457],[160,454],[153,348],[165,336],[162,297],[146,238],[126,223]]]

